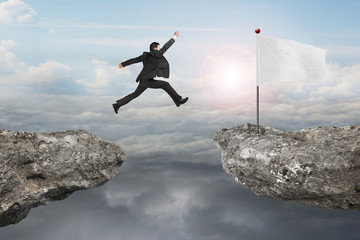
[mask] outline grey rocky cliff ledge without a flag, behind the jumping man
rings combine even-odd
[[[124,161],[119,146],[87,131],[0,130],[0,227],[18,223],[31,208],[104,184]]]

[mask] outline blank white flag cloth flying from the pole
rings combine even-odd
[[[257,35],[257,86],[273,81],[327,78],[326,50],[292,40]]]

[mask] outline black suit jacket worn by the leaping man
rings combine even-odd
[[[163,54],[166,50],[171,47],[175,42],[175,39],[171,38],[165,45],[158,50],[151,50],[150,52],[144,52],[142,55],[136,58],[131,58],[121,64],[123,67],[126,67],[130,64],[143,62],[143,69],[141,70],[139,76],[136,78],[136,82],[141,79],[149,79],[154,77],[164,77],[168,78],[170,75],[169,63]]]

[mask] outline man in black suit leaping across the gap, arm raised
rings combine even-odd
[[[139,85],[135,91],[117,100],[116,103],[113,104],[113,108],[116,114],[118,113],[118,110],[121,106],[124,106],[131,100],[140,96],[140,94],[143,93],[147,88],[163,89],[169,94],[175,105],[178,107],[186,103],[186,101],[189,99],[188,97],[182,98],[168,82],[154,79],[155,77],[169,78],[169,63],[164,57],[164,53],[175,42],[175,39],[178,36],[179,32],[176,31],[174,36],[167,43],[165,43],[162,48],[160,48],[159,43],[153,42],[150,44],[150,52],[144,52],[139,57],[131,58],[119,64],[119,68],[123,68],[134,63],[142,62],[143,69],[136,78],[136,82],[138,82]]]

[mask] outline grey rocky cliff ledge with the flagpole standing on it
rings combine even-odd
[[[360,126],[286,132],[244,124],[214,136],[224,170],[256,195],[360,209]]]

